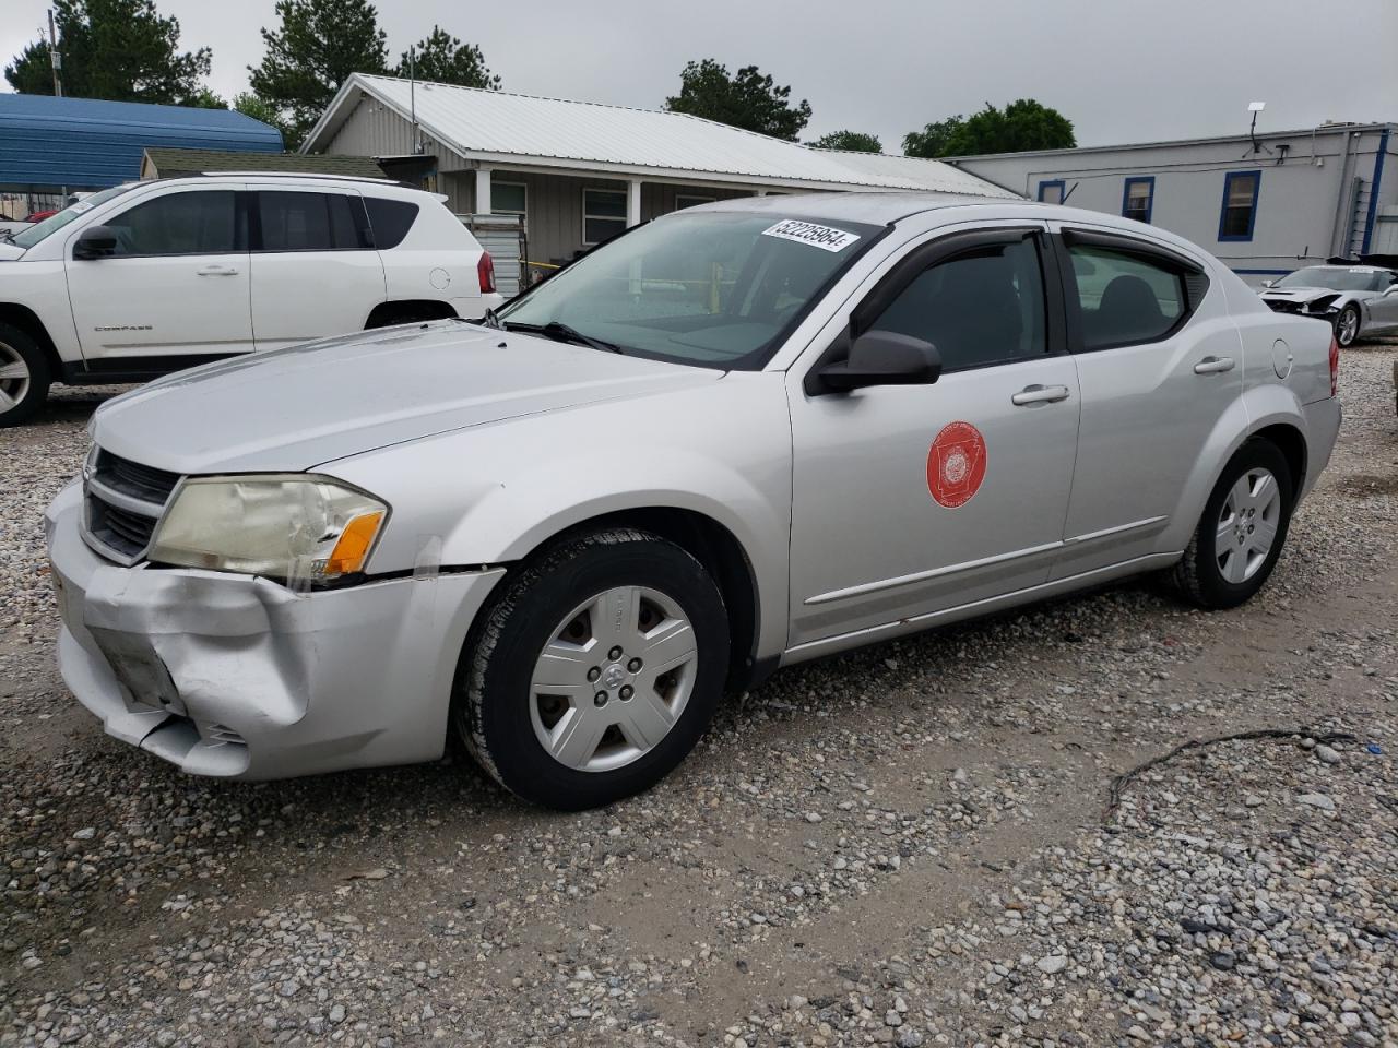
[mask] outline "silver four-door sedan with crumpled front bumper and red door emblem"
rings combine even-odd
[[[48,511],[59,662],[190,773],[432,760],[643,789],[783,665],[1148,572],[1264,585],[1338,352],[1204,250],[955,196],[724,201],[477,323],[103,405]]]

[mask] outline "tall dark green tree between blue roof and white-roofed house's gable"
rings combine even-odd
[[[387,73],[389,48],[368,0],[278,0],[277,17],[281,28],[263,28],[267,53],[247,80],[295,150],[351,73]]]

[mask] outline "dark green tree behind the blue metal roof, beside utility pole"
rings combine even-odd
[[[63,56],[63,94],[113,102],[201,105],[208,89],[210,49],[179,49],[179,20],[162,17],[154,0],[55,0]],[[6,66],[10,87],[53,94],[49,43],[28,45]]]

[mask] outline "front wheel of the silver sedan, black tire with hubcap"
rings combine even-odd
[[[467,640],[452,721],[526,801],[596,808],[684,760],[727,669],[727,613],[703,566],[644,531],[597,531],[506,578]]]

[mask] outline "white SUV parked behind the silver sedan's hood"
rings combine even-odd
[[[375,179],[200,175],[96,193],[0,242],[0,426],[53,381],[145,381],[221,356],[502,305],[445,197]]]

